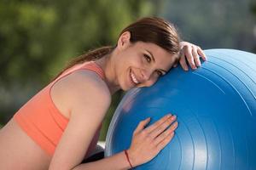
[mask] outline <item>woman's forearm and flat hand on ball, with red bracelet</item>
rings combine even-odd
[[[81,164],[73,168],[73,170],[121,170],[130,169],[131,166],[137,167],[138,165],[146,163],[153,159],[154,156],[157,156],[160,150],[172,140],[174,130],[177,128],[177,122],[172,123],[175,120],[176,116],[168,114],[149,127],[145,128],[150,121],[150,118],[147,118],[138,124],[133,132],[131,146],[127,150],[128,159],[130,160],[131,165],[125,156],[125,151],[122,151],[100,161]],[[172,125],[170,126],[170,124]]]

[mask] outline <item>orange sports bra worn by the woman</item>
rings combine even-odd
[[[46,151],[49,156],[53,156],[55,147],[59,143],[61,135],[68,123],[67,117],[63,116],[55,107],[50,96],[50,90],[55,82],[59,81],[62,77],[66,77],[73,73],[73,71],[82,69],[94,71],[102,78],[102,80],[105,79],[102,68],[99,65],[96,65],[94,61],[74,65],[67,69],[67,71],[64,71],[60,77],[55,79],[55,81],[49,83],[48,86],[32,97],[32,99],[15,113],[15,122],[17,122],[21,129],[23,129],[44,151]],[[98,128],[92,139],[86,156],[89,156],[94,150],[101,127],[102,126]]]

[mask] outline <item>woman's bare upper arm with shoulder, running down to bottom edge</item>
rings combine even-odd
[[[111,95],[106,83],[91,71],[77,71],[64,77],[52,90],[61,95],[59,100],[70,111],[70,117],[49,169],[72,169],[84,160],[90,141],[108,111]]]

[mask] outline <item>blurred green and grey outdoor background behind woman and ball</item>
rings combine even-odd
[[[256,53],[256,0],[1,0],[0,127],[68,60],[115,45],[119,32],[143,16],[171,21],[184,41],[204,49]],[[101,140],[123,94],[113,96]]]

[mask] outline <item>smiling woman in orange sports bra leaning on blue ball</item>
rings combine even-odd
[[[0,169],[127,169],[156,156],[173,137],[176,116],[167,114],[134,130],[130,148],[114,156],[86,159],[96,147],[111,95],[149,87],[179,62],[200,66],[201,48],[180,42],[175,28],[159,18],[127,26],[114,48],[98,48],[74,59],[30,99],[0,131]],[[171,126],[170,126],[171,125]]]

